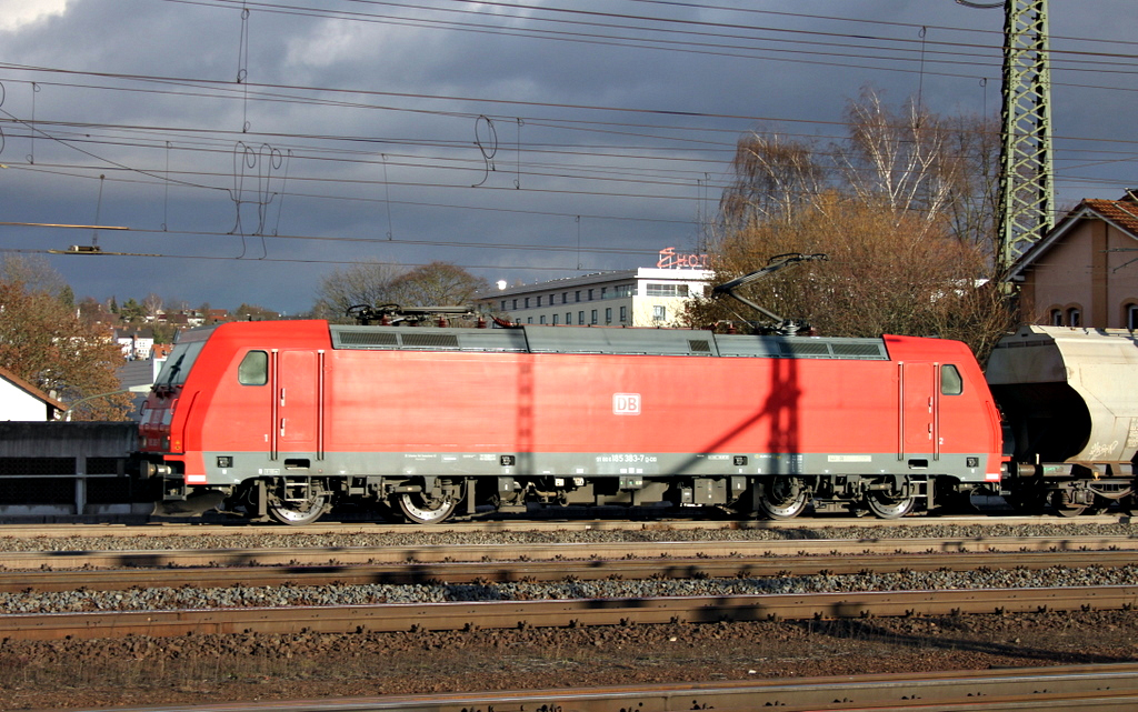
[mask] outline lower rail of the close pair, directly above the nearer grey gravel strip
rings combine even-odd
[[[172,556],[171,561],[176,561]],[[0,593],[125,590],[147,587],[360,586],[371,583],[503,583],[601,579],[772,578],[907,571],[1041,570],[1125,566],[1132,550],[822,555],[721,558],[619,558],[397,564],[184,566],[164,569],[0,571]],[[171,564],[174,565],[174,564]]]

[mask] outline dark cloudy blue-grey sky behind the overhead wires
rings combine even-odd
[[[1049,2],[1061,207],[1138,187],[1132,6]],[[355,262],[508,283],[654,266],[703,249],[750,131],[836,140],[863,86],[997,115],[1003,15],[0,0],[0,256],[48,260],[77,298],[287,314]]]

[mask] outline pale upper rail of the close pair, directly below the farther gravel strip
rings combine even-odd
[[[927,539],[778,539],[770,541],[611,541],[463,544],[242,549],[3,552],[0,569],[119,569],[163,566],[304,566],[461,561],[777,557],[967,552],[1138,552],[1138,538],[974,537]]]

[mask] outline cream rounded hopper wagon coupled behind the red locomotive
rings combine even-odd
[[[1138,345],[1122,330],[1024,326],[1000,340],[988,382],[1013,445],[1009,502],[1074,515],[1135,505]]]

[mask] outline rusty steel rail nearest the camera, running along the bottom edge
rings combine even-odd
[[[1132,710],[1138,704],[1138,665],[1070,665],[1015,670],[869,674],[858,678],[739,680],[570,689],[443,693],[340,699],[216,703],[160,707],[165,712],[470,712],[562,710],[673,712],[715,709],[805,710]],[[155,707],[146,707],[152,711]],[[142,712],[122,709],[119,712]]]

